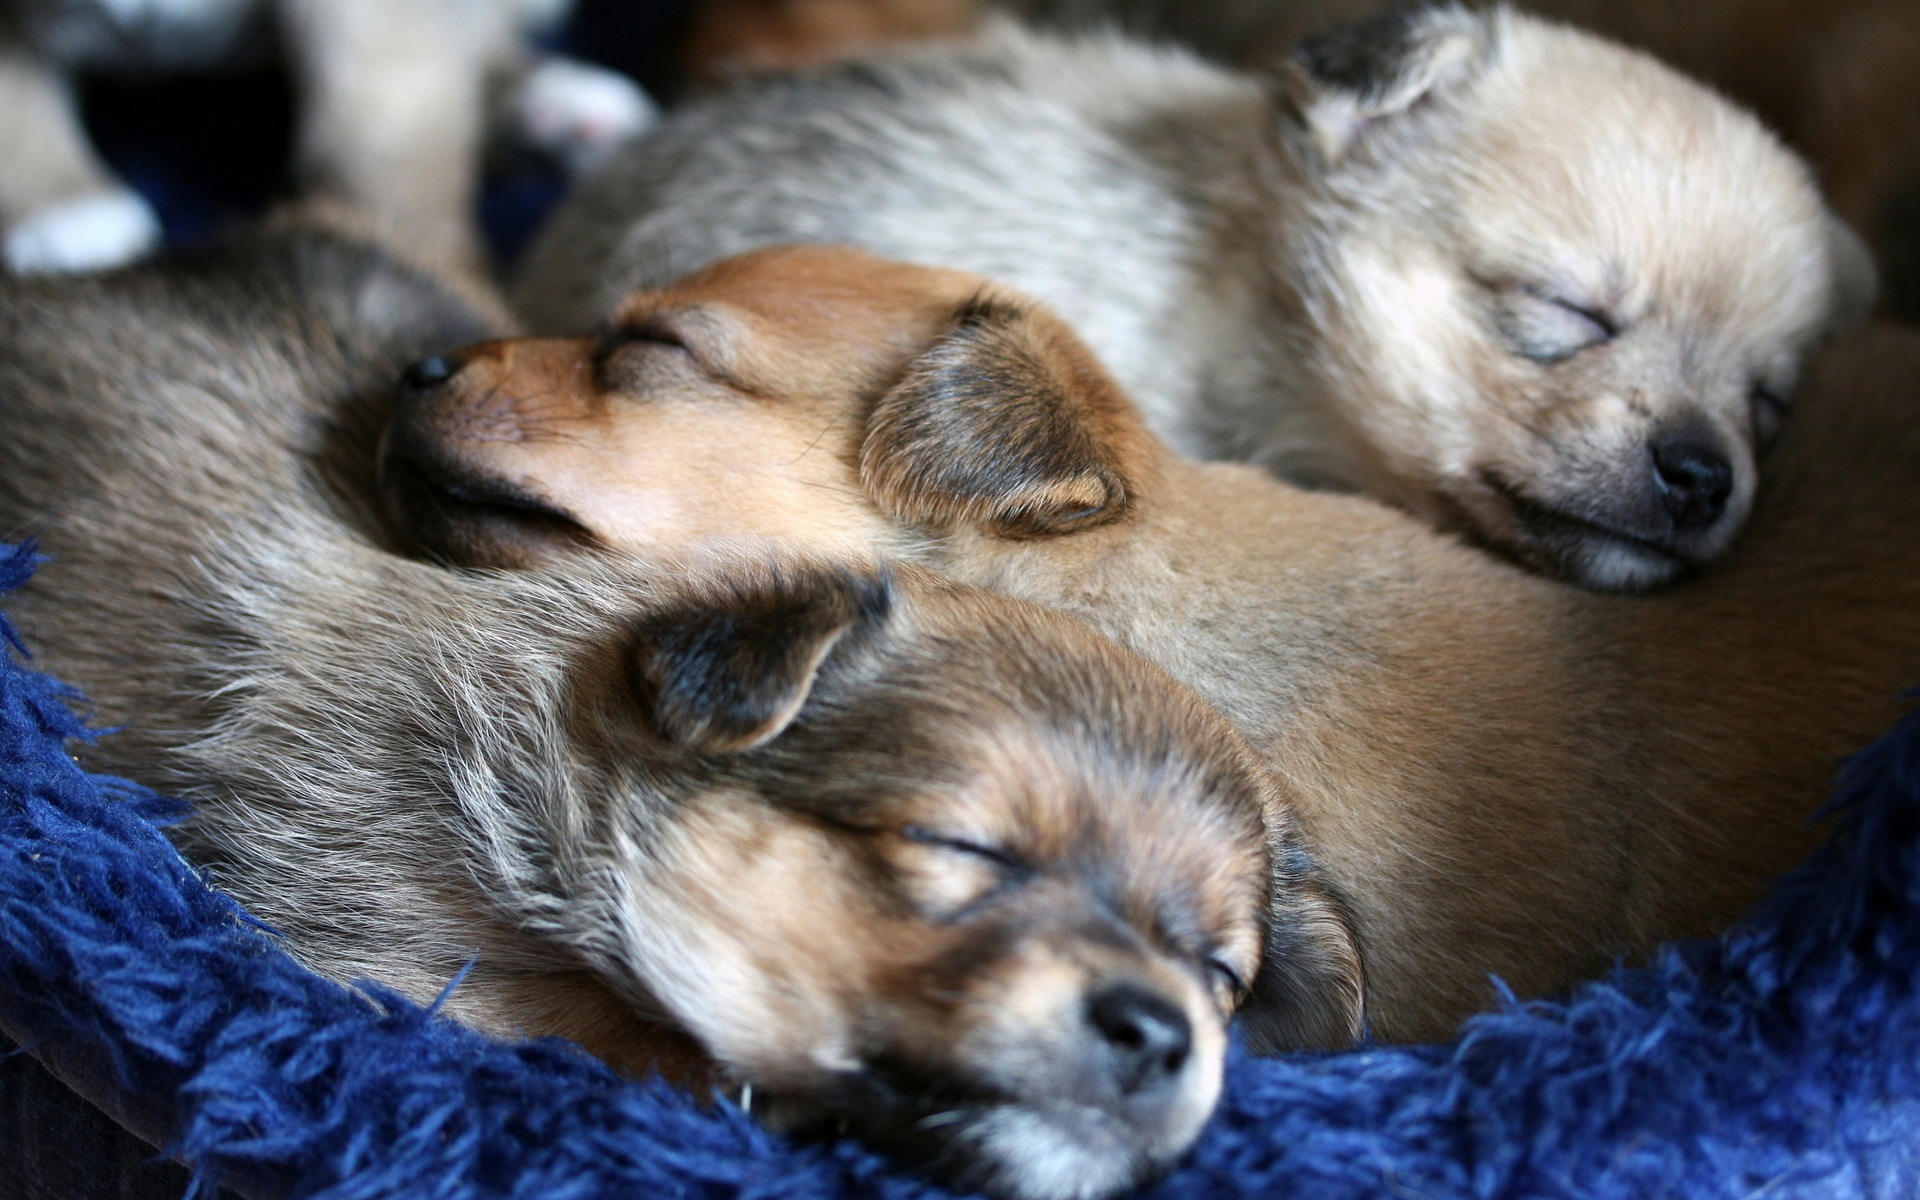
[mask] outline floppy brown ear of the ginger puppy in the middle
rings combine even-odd
[[[1046,538],[1129,509],[1146,432],[1054,317],[975,298],[868,417],[860,482],[889,515]]]

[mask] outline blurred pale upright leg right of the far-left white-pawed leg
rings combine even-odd
[[[426,265],[482,265],[478,184],[495,6],[459,0],[280,0],[300,86],[300,169],[309,188],[367,211]]]

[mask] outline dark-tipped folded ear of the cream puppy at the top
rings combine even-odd
[[[1283,96],[1331,165],[1367,134],[1476,77],[1498,52],[1501,13],[1388,8],[1306,38],[1281,69]]]

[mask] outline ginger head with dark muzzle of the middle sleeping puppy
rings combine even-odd
[[[593,338],[417,363],[382,484],[417,547],[515,566],[728,534],[833,553],[925,528],[1071,534],[1125,516],[1148,459],[1052,315],[977,276],[801,246],[639,294]]]

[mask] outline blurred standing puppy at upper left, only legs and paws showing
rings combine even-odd
[[[300,167],[422,261],[476,269],[490,77],[499,125],[574,169],[653,119],[624,77],[520,48],[566,0],[0,0],[0,261],[98,271],[159,244],[159,219],[81,129],[71,71],[150,75],[265,58],[303,92]]]

